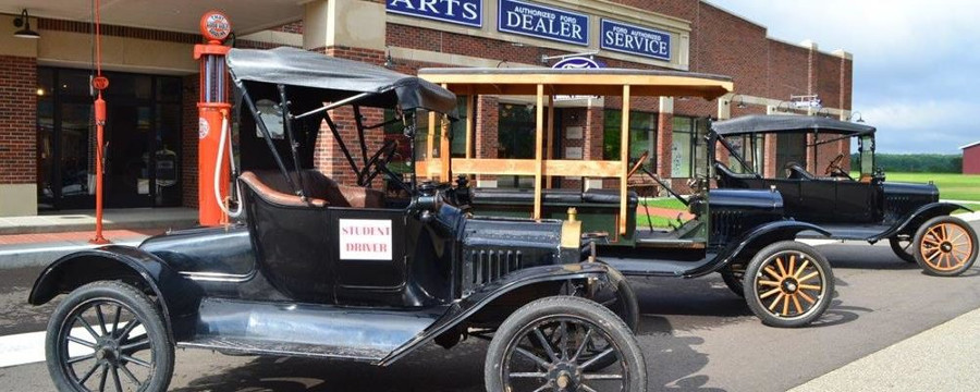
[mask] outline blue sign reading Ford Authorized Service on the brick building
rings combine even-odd
[[[671,61],[671,35],[652,28],[602,20],[600,47],[623,53]]]

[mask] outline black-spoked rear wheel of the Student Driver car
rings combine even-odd
[[[71,292],[48,321],[45,354],[59,391],[158,392],[173,375],[173,344],[159,308],[121,282]]]

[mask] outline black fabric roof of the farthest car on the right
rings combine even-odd
[[[847,121],[828,119],[817,115],[763,115],[752,114],[732,120],[719,121],[711,130],[721,136],[746,135],[754,133],[799,133],[820,132],[847,136],[873,134],[874,127]]]

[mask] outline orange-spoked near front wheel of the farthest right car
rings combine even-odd
[[[916,262],[926,273],[955,277],[977,260],[977,232],[959,218],[932,218],[916,231]]]

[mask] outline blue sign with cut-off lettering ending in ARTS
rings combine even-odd
[[[464,26],[483,26],[483,0],[388,0],[388,12],[449,22]]]

